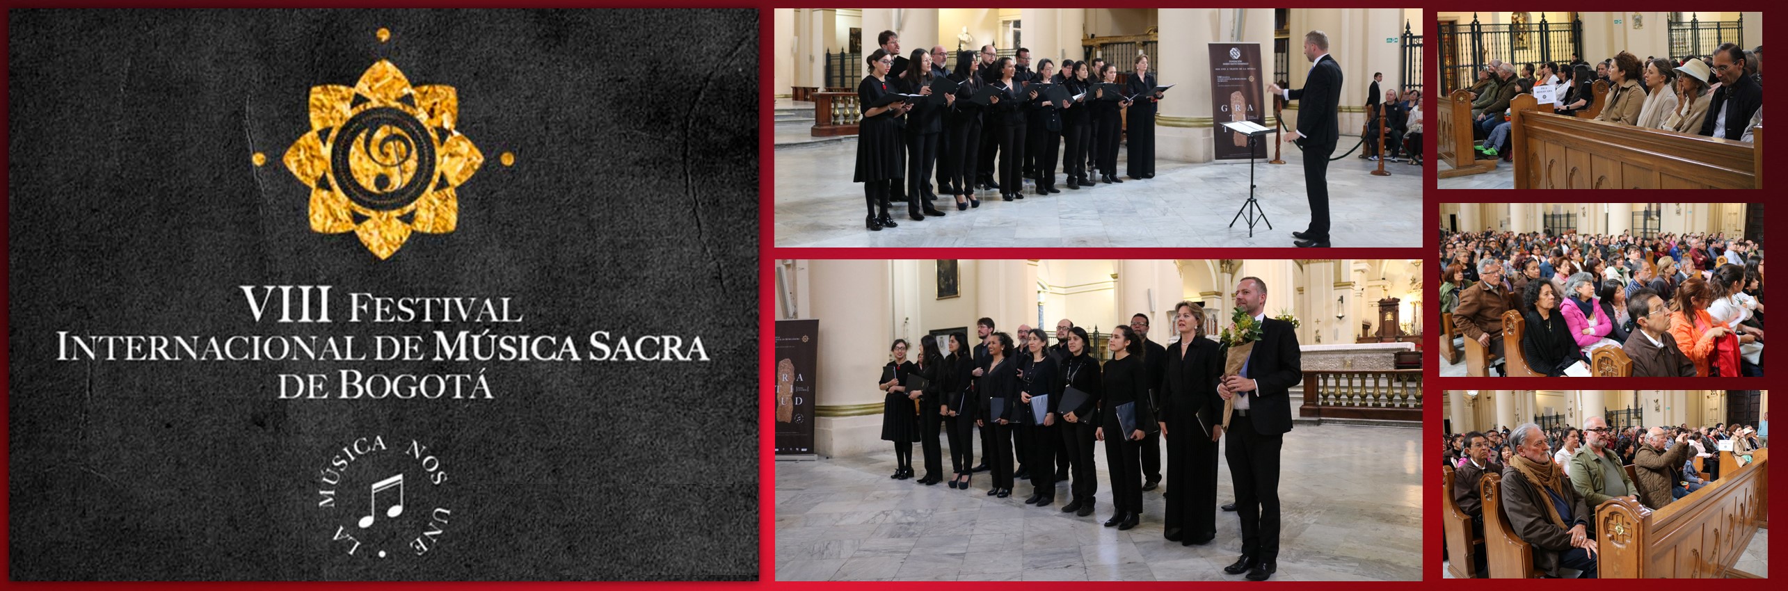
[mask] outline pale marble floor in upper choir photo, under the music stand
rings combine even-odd
[[[778,137],[783,130],[778,129]],[[781,139],[778,139],[781,141]],[[1343,146],[1357,143],[1343,136]],[[1228,227],[1248,196],[1248,164],[1157,161],[1155,179],[1098,184],[1001,202],[982,191],[982,207],[910,221],[896,204],[898,229],[864,229],[864,191],[851,182],[856,141],[778,146],[774,152],[776,246],[1291,246],[1309,221],[1302,154],[1287,146],[1286,164],[1257,164],[1257,200],[1273,229]],[[1355,154],[1357,155],[1357,154]],[[1334,246],[1420,246],[1421,170],[1346,155],[1328,166]],[[1125,150],[1119,150],[1119,171]],[[987,198],[991,196],[991,200]]]

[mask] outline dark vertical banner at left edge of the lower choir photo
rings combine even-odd
[[[776,455],[814,454],[819,320],[776,321]]]

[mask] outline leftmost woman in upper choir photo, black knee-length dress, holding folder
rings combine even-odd
[[[889,80],[889,68],[894,66],[894,57],[883,50],[874,50],[865,61],[869,62],[869,75],[864,77],[862,84],[856,84],[856,100],[864,109],[864,118],[856,123],[856,175],[851,180],[864,184],[864,202],[869,204],[869,216],[864,218],[864,225],[869,230],[880,232],[881,229],[896,227],[894,218],[889,218],[889,198],[894,186],[907,173],[901,162],[905,150],[896,118],[912,109],[912,105],[898,102],[883,107],[869,107],[876,98],[894,91]]]

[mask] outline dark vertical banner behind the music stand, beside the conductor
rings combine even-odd
[[[1248,120],[1266,127],[1261,87],[1259,43],[1210,43],[1210,139],[1218,161],[1250,157],[1248,137],[1223,123]],[[1266,157],[1266,137],[1255,141],[1253,157]]]

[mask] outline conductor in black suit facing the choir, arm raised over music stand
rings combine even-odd
[[[1336,152],[1341,137],[1341,123],[1336,121],[1336,109],[1341,105],[1341,64],[1328,57],[1328,34],[1311,30],[1303,34],[1303,57],[1311,61],[1311,73],[1302,89],[1282,89],[1268,84],[1268,93],[1286,100],[1298,100],[1298,129],[1286,134],[1286,141],[1296,141],[1303,148],[1303,187],[1311,196],[1311,227],[1303,232],[1291,232],[1298,248],[1328,246],[1328,155]]]

